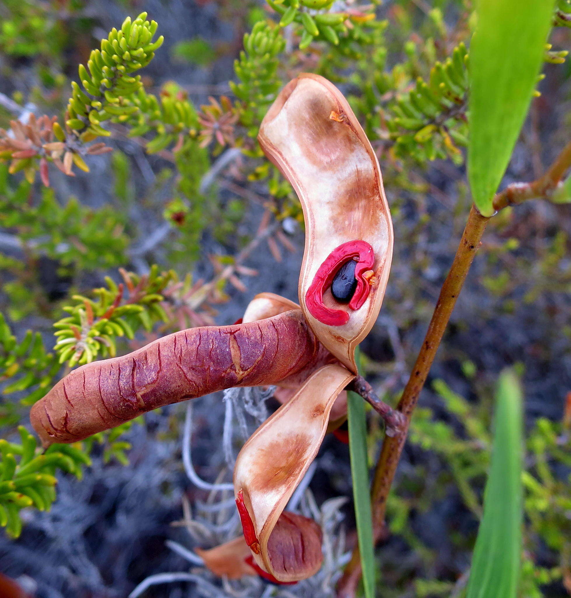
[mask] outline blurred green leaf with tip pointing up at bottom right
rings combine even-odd
[[[517,597],[523,520],[522,419],[520,386],[515,374],[506,370],[499,379],[484,517],[466,598]]]

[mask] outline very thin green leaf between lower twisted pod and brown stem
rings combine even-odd
[[[357,364],[359,350],[355,352]],[[373,525],[369,490],[369,465],[367,464],[367,420],[365,402],[354,392],[347,393],[347,417],[349,426],[349,455],[353,480],[353,501],[357,538],[363,569],[363,587],[366,598],[374,598],[375,567],[373,550]]]

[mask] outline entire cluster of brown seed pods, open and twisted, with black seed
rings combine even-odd
[[[177,332],[73,371],[30,418],[45,444],[73,442],[215,390],[262,384],[297,389],[247,441],[234,472],[253,559],[246,564],[271,581],[289,583],[320,568],[321,530],[283,509],[317,454],[337,396],[356,372],[355,346],[374,324],[385,292],[392,225],[376,156],[329,81],[317,75],[291,81],[263,120],[259,140],[302,201],[302,309],[277,295],[259,295],[243,324]],[[351,260],[354,267],[347,266]],[[340,285],[337,300],[331,284],[348,272],[354,280],[349,276]]]

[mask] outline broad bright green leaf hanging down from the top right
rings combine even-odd
[[[551,25],[552,0],[477,0],[470,47],[468,179],[484,216],[538,81]]]

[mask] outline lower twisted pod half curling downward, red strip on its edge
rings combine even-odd
[[[234,493],[246,543],[260,568],[280,582],[308,578],[321,566],[321,530],[283,510],[314,460],[337,395],[354,377],[340,364],[315,371],[242,447]]]

